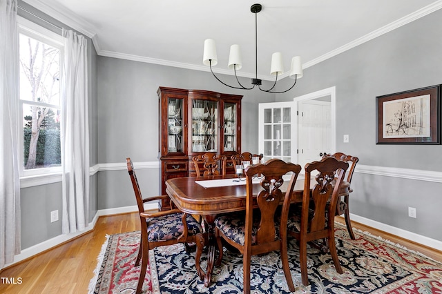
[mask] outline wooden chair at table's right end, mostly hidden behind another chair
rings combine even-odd
[[[358,163],[359,159],[358,157],[352,156],[352,155],[345,155],[344,153],[334,153],[332,154],[325,154],[323,157],[334,157],[336,159],[340,159],[342,161],[348,162],[350,164],[349,169],[347,171],[347,178],[345,179],[349,184],[352,184],[352,177],[354,173],[354,168],[356,167],[356,164]],[[349,193],[353,192],[352,186],[348,189]],[[336,206],[336,215],[344,215],[345,217],[345,225],[347,226],[347,231],[350,235],[350,238],[352,240],[355,239],[353,228],[352,228],[352,222],[350,221],[350,213],[349,213],[349,193],[346,195],[341,195],[338,200],[338,205]]]

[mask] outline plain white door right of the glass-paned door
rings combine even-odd
[[[298,163],[320,160],[322,153],[330,153],[332,139],[331,106],[329,101],[298,102]]]

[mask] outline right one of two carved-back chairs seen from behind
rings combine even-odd
[[[307,243],[309,242],[326,239],[326,246],[322,248],[329,249],[336,271],[343,273],[334,240],[334,216],[340,186],[348,166],[347,162],[333,157],[325,157],[320,161],[306,164],[302,206],[292,206],[289,210],[282,210],[282,219],[286,218],[285,214],[288,215],[287,233],[298,239],[301,278],[305,286],[309,284],[307,277]],[[311,179],[313,172],[317,172],[317,175]],[[316,181],[312,190],[310,190],[311,180]]]

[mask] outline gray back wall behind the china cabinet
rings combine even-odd
[[[242,150],[250,152],[258,152],[258,104],[275,101],[274,95],[259,90],[227,88],[210,72],[101,56],[98,72],[98,161],[102,164],[123,163],[126,157],[135,163],[158,161],[159,86],[244,95]],[[220,77],[233,84],[233,77]],[[268,83],[264,86],[270,88]],[[158,168],[137,170],[137,177],[144,197],[160,193]],[[135,205],[124,170],[100,172],[98,187],[99,209]]]

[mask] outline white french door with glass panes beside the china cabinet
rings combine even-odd
[[[296,113],[294,102],[259,104],[258,152],[263,161],[272,158],[296,162]]]

